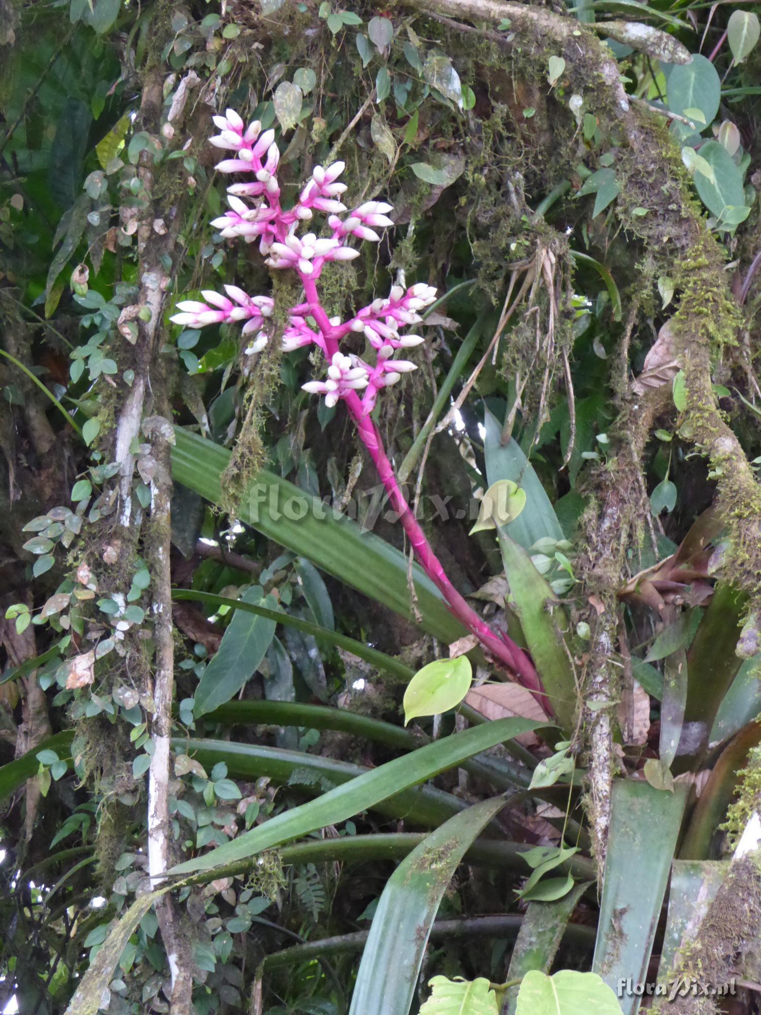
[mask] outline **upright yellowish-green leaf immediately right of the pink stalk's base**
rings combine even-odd
[[[526,645],[558,725],[570,731],[576,712],[576,683],[562,640],[567,620],[556,604],[557,597],[529,554],[506,535],[509,530],[510,526],[499,530],[509,602],[521,621]]]

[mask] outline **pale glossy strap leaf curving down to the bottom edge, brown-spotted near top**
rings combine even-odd
[[[449,818],[389,878],[372,918],[349,1015],[407,1015],[446,886],[468,848],[504,804],[503,797],[485,800]]]

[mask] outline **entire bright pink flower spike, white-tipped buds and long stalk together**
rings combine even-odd
[[[338,161],[327,167],[315,166],[296,203],[292,208],[285,209],[277,178],[280,151],[275,143],[274,130],[263,131],[262,124],[257,120],[246,127],[234,110],[227,110],[223,117],[214,117],[214,123],[220,133],[211,138],[211,143],[217,148],[234,152],[234,157],[223,159],[216,168],[225,174],[250,174],[254,180],[228,188],[229,210],[211,224],[220,230],[225,240],[240,238],[246,243],[253,243],[259,239],[259,249],[270,268],[291,269],[298,274],[304,301],[289,311],[289,324],[282,335],[282,349],[292,352],[316,345],[328,361],[326,379],[308,381],[303,389],[310,394],[323,395],[329,406],[339,401],[346,405],[418,560],[441,592],[449,611],[478,638],[484,652],[514,674],[515,679],[546,707],[542,685],[528,654],[508,635],[492,630],[446,577],[402,492],[380,433],[370,418],[378,393],[396,384],[402,374],[416,368],[416,364],[409,359],[395,358],[396,353],[399,349],[419,345],[424,339],[416,334],[400,334],[400,328],[422,322],[419,312],[433,302],[436,290],[423,282],[412,285],[406,291],[403,286],[395,285],[387,299],[373,300],[347,321],[330,318],[321,300],[318,281],[326,263],[350,261],[358,257],[359,251],[349,246],[352,236],[377,243],[380,236],[375,229],[394,224],[388,214],[393,210],[392,206],[383,201],[366,201],[353,208],[347,217],[341,218],[340,215],[348,209],[339,198],[346,192],[347,186],[338,182],[344,170],[344,163]],[[254,199],[255,203],[249,205],[243,198]],[[330,235],[318,236],[316,232],[297,235],[299,226],[312,222],[316,212],[328,216]],[[224,288],[226,295],[203,290],[206,302],[179,302],[180,313],[170,320],[175,324],[194,328],[245,321],[243,333],[253,336],[246,352],[250,355],[261,352],[274,333],[273,298],[267,295],[251,296],[235,285],[225,285]],[[374,363],[342,351],[345,340],[358,334],[364,335],[371,346]]]

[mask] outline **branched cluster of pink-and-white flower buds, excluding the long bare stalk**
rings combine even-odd
[[[304,390],[324,395],[331,406],[349,392],[361,392],[362,411],[370,412],[378,391],[416,368],[410,360],[394,357],[398,349],[412,348],[423,339],[420,335],[401,334],[400,329],[422,321],[419,312],[433,302],[436,290],[422,282],[407,290],[395,285],[388,299],[375,299],[349,321],[342,322],[339,318],[327,318],[319,304],[315,282],[327,261],[349,261],[359,256],[359,251],[349,246],[352,236],[377,243],[380,236],[375,230],[393,225],[389,218],[392,206],[383,201],[365,201],[349,211],[340,200],[346,184],[338,182],[344,163],[334,162],[327,167],[316,165],[296,204],[285,210],[280,203],[277,179],[280,151],[275,144],[275,132],[263,131],[258,120],[247,127],[234,110],[227,110],[223,117],[214,117],[214,123],[219,134],[211,138],[211,143],[232,153],[216,168],[220,173],[251,174],[254,179],[227,188],[229,208],[211,224],[225,240],[240,236],[252,243],[258,239],[270,268],[291,268],[304,283],[307,301],[290,311],[282,337],[283,351],[317,345],[329,361],[326,380],[309,381],[303,385]],[[244,198],[252,203],[247,204]],[[347,211],[348,215],[339,217]],[[296,235],[299,226],[310,223],[316,213],[327,216],[331,234],[320,236],[309,231]],[[272,298],[250,296],[235,285],[225,285],[224,289],[226,295],[204,290],[201,293],[204,302],[194,299],[179,302],[180,313],[170,320],[193,328],[245,321],[244,334],[253,334],[246,351],[261,352],[271,333]],[[351,333],[364,334],[374,350],[374,364],[335,351],[338,343]]]

